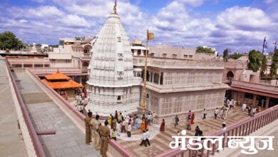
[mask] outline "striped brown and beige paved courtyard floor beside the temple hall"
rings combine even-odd
[[[230,113],[230,116],[228,116],[226,119],[227,126],[247,117],[247,112],[242,113],[242,111],[240,111],[240,107],[232,108],[231,112],[232,113]],[[194,136],[195,126],[200,126],[200,130],[202,130],[204,132],[204,136],[206,136],[207,133],[211,133],[222,128],[222,121],[224,120],[215,119],[212,116],[207,116],[207,119],[203,121],[195,121],[195,123],[192,124],[192,130],[187,131],[187,136]],[[142,137],[142,131],[140,131],[140,129],[133,130],[131,132],[131,138],[127,138],[125,133],[121,134],[118,137],[118,143],[120,143],[120,145],[122,145],[124,148],[127,148],[135,156],[156,156],[160,153],[170,150],[169,143],[173,141],[172,136],[177,135],[177,130],[184,130],[185,123],[180,123],[180,125],[177,127],[165,126],[165,132],[160,132],[159,128],[160,124],[150,126],[150,135],[153,135],[153,138],[150,138],[150,146],[139,146],[140,138]]]

